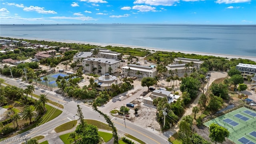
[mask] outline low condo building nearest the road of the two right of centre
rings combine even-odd
[[[194,67],[188,66],[186,64],[173,64],[166,66],[167,71],[165,72],[165,76],[184,76],[185,73],[190,74],[193,72]],[[172,70],[173,74],[170,74],[170,70]]]

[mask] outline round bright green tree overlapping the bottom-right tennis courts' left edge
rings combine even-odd
[[[226,128],[215,123],[210,124],[209,131],[209,137],[211,138],[212,142],[222,143],[225,141],[225,138],[228,138],[229,136],[229,131]]]

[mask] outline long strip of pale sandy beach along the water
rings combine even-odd
[[[236,55],[229,55],[229,54],[217,54],[217,53],[206,53],[206,52],[192,52],[192,51],[182,51],[182,50],[166,50],[166,49],[158,49],[158,48],[150,48],[150,47],[143,47],[143,46],[132,46],[132,45],[126,45],[126,44],[105,44],[105,43],[97,43],[97,42],[85,42],[85,41],[76,41],[76,40],[49,40],[49,39],[36,39],[36,38],[22,38],[22,37],[10,37],[10,38],[16,38],[16,39],[27,39],[27,40],[44,40],[48,42],[63,42],[63,43],[76,43],[76,44],[90,44],[90,45],[96,45],[96,46],[119,46],[119,47],[130,47],[130,48],[144,48],[147,50],[154,50],[154,51],[162,51],[162,52],[181,52],[184,54],[197,54],[197,55],[203,55],[203,56],[216,56],[216,57],[222,57],[222,58],[242,58],[242,59],[248,59],[256,62],[256,57],[252,56],[236,56]]]

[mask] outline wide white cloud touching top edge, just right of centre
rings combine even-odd
[[[180,0],[135,0],[134,4],[149,4],[152,6],[172,6]]]

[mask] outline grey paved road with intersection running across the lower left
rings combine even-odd
[[[20,88],[25,89],[26,83],[24,82],[17,82],[13,78],[7,78],[1,75],[1,78],[6,80],[5,82],[14,86],[18,86]],[[59,102],[60,104],[64,105],[64,109],[61,109],[63,112],[55,118],[54,120],[51,120],[50,122],[47,122],[41,126],[38,126],[32,130],[29,130],[27,132],[24,132],[22,134],[19,134],[17,136],[14,136],[12,138],[18,138],[22,139],[24,135],[27,134],[28,137],[33,138],[35,136],[43,135],[45,138],[51,142],[51,143],[61,143],[59,138],[56,138],[56,134],[54,132],[54,128],[59,126],[60,124],[64,124],[66,122],[69,122],[70,120],[74,120],[74,117],[76,115],[77,110],[77,104],[80,104],[82,108],[82,112],[84,114],[84,118],[86,119],[94,119],[99,120],[101,122],[106,123],[104,118],[98,114],[98,112],[95,112],[92,110],[92,108],[85,106],[81,101],[72,101],[67,98],[63,98],[59,94],[56,94],[55,92],[49,91],[49,90],[43,90],[43,89],[37,89],[34,92],[35,94],[47,94],[48,98],[52,101]],[[52,104],[50,104],[53,106]],[[56,106],[54,106],[56,107]],[[58,108],[58,107],[56,107]],[[60,108],[59,108],[60,109]],[[110,116],[110,118],[114,118],[113,116]],[[141,128],[140,126],[137,126],[135,124],[132,124],[130,122],[126,122],[126,127],[124,126],[124,120],[122,119],[113,119],[113,122],[115,123],[116,128],[118,131],[126,132],[128,134],[131,134],[132,136],[135,136],[139,138],[140,140],[148,143],[148,144],[166,144],[168,143],[167,138],[162,138],[157,134],[154,134],[144,128]],[[1,142],[1,144],[18,144],[20,142]]]

